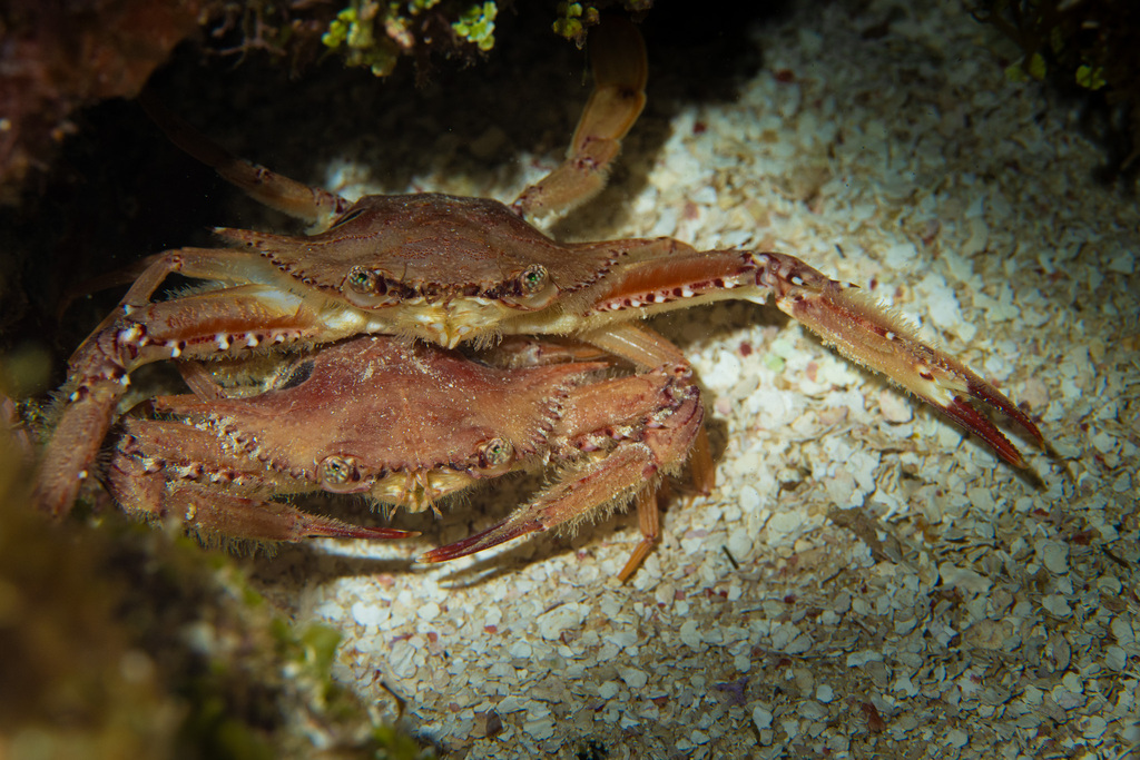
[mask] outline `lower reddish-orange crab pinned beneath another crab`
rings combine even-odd
[[[173,515],[206,536],[385,539],[414,533],[351,525],[271,497],[359,493],[421,512],[480,481],[544,468],[552,482],[531,501],[424,559],[572,525],[636,492],[643,539],[625,579],[658,534],[654,487],[645,484],[686,461],[703,407],[685,363],[619,376],[612,363],[536,341],[508,341],[477,361],[391,336],[350,338],[286,363],[255,395],[206,393],[199,376],[198,395],[153,399],[163,418],[124,419],[107,482],[128,513]],[[707,483],[710,472],[698,457],[694,481]]]

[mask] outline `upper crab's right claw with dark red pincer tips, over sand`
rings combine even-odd
[[[1017,448],[971,401],[1017,423],[1039,446],[1044,436],[1001,391],[963,363],[921,342],[914,329],[854,285],[837,283],[804,262],[777,253],[757,254],[771,276],[765,285],[776,307],[803,322],[840,353],[882,373],[931,407],[971,431],[999,457],[1025,467]]]

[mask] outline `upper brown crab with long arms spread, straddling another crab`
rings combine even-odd
[[[228,247],[178,248],[142,262],[120,307],[70,363],[66,406],[38,481],[42,508],[60,514],[91,472],[136,368],[301,351],[360,334],[441,346],[491,345],[510,335],[565,335],[652,370],[681,351],[638,325],[648,316],[724,299],[765,302],[855,361],[881,371],[1024,466],[976,409],[1041,432],[1001,392],[931,348],[853,285],[783,253],[697,251],[669,238],[557,243],[526,216],[562,212],[596,193],[644,104],[646,63],[636,28],[617,21],[591,38],[594,91],[569,157],[512,205],[439,194],[349,203],[241,162],[157,104],[174,142],[254,198],[315,226],[287,236],[220,228]],[[173,272],[217,285],[154,301]],[[315,531],[319,533],[320,531]]]

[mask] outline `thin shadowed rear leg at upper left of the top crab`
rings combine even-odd
[[[149,90],[142,90],[138,101],[171,142],[270,209],[323,230],[351,205],[334,193],[309,187],[264,166],[230,155],[166,108]]]

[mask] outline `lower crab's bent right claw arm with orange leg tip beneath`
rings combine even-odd
[[[644,415],[648,409],[658,411],[648,416],[653,422],[637,433],[636,440],[619,442],[609,452],[583,460],[505,521],[477,536],[432,549],[421,559],[446,562],[520,536],[572,525],[637,493],[643,538],[620,578],[632,575],[658,538],[657,479],[660,473],[684,464],[703,430],[705,410],[690,377],[687,365],[661,368],[601,383],[568,399],[563,414],[573,431],[571,446],[587,451],[596,446],[594,441],[600,435],[620,435],[622,423]],[[657,400],[646,404],[653,397]],[[669,409],[668,415],[658,420],[665,409]]]

